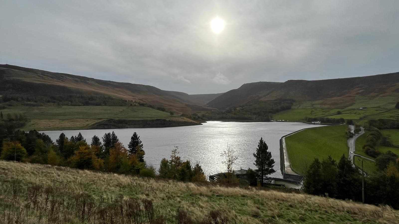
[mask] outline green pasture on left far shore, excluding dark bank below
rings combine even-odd
[[[105,121],[110,119],[164,119],[182,123],[193,122],[190,119],[170,115],[168,112],[145,106],[10,106],[1,111],[3,114],[23,114],[26,116],[29,121],[22,128],[23,130],[89,129],[97,124],[107,123]],[[114,127],[107,126],[104,128]]]

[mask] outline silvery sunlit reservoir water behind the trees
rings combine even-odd
[[[253,153],[259,139],[263,137],[269,151],[275,160],[273,177],[282,177],[280,171],[280,138],[302,128],[320,125],[297,122],[220,122],[209,121],[198,126],[184,126],[171,128],[123,128],[97,130],[68,130],[44,131],[55,141],[62,132],[70,138],[81,132],[88,143],[96,135],[101,137],[106,132],[114,131],[119,141],[127,147],[133,132],[137,132],[144,144],[144,157],[147,164],[152,164],[158,170],[162,158],[169,159],[174,145],[179,147],[183,160],[190,159],[194,166],[199,161],[207,177],[211,174],[225,172],[225,165],[221,162],[221,153],[230,145],[238,155],[234,169],[255,168]]]

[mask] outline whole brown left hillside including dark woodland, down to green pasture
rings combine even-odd
[[[0,80],[0,95],[11,105],[24,102],[23,105],[34,106],[127,106],[129,102],[139,101],[175,113],[191,114],[196,110],[207,110],[201,105],[218,96],[189,95],[154,86],[104,81],[14,65],[0,65]],[[4,96],[8,98],[5,100]]]

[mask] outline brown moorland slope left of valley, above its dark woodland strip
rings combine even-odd
[[[161,90],[154,86],[104,81],[14,65],[0,65],[0,80],[0,95],[17,94],[26,97],[55,97],[67,94],[107,95],[162,106],[167,110],[186,114],[190,114],[193,108],[202,109],[198,106],[218,96],[218,94],[189,95],[184,92]]]

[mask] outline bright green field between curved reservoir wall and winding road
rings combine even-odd
[[[331,155],[338,161],[343,154],[348,156],[346,128],[346,125],[311,128],[286,137],[292,169],[302,173],[314,158],[322,160]]]

